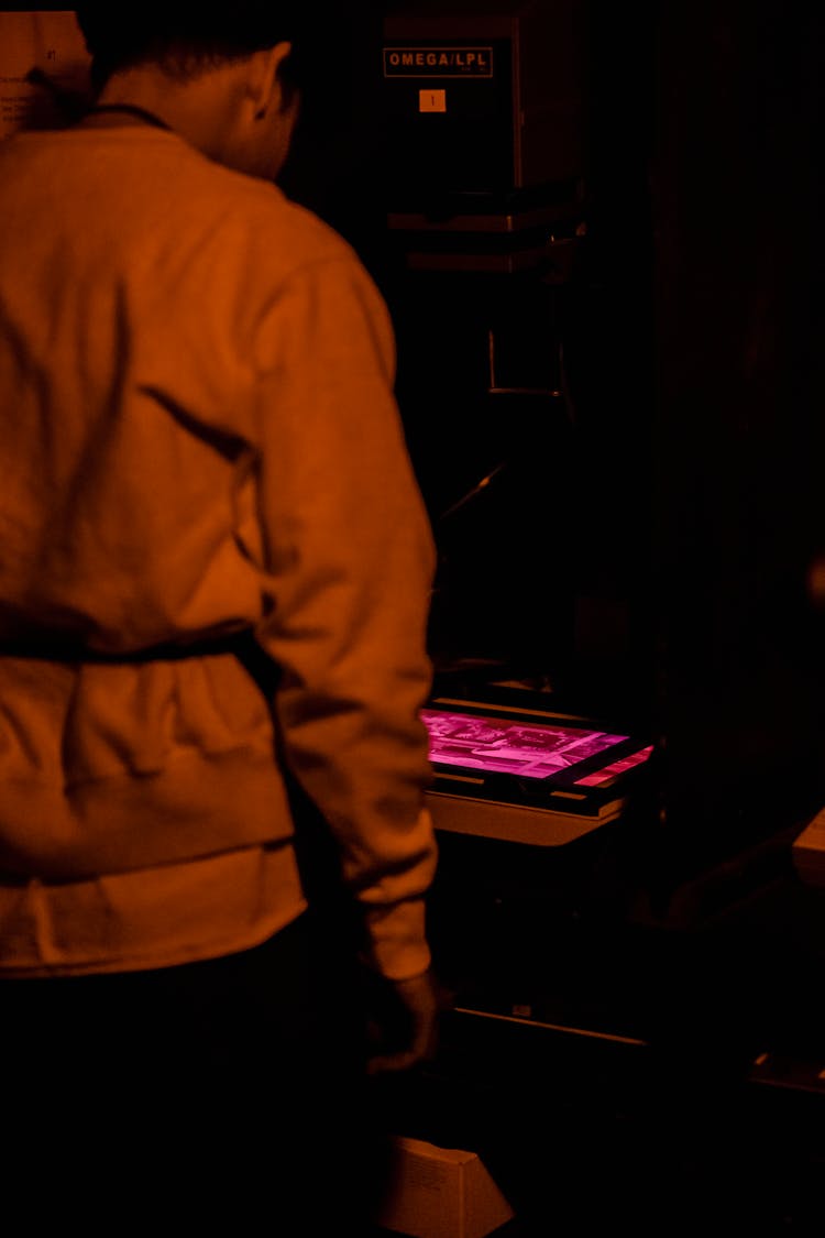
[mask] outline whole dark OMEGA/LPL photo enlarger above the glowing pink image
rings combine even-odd
[[[562,319],[585,209],[581,5],[387,6],[385,281],[435,526],[437,660],[553,670],[573,645]]]

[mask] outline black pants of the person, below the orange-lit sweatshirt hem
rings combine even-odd
[[[210,962],[0,982],[0,1205],[87,1234],[367,1233],[390,1161],[359,994],[309,915]]]

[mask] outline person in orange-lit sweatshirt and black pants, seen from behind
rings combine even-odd
[[[364,1218],[361,999],[434,1046],[432,535],[283,7],[82,6],[95,105],[0,147],[6,1185],[87,1232]]]

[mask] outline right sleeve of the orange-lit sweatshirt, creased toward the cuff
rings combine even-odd
[[[257,335],[259,503],[284,760],[335,839],[369,958],[429,966],[437,846],[419,711],[435,567],[393,396],[386,306],[355,260],[302,269]]]

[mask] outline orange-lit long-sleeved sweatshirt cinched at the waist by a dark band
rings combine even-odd
[[[377,290],[273,186],[143,126],[6,139],[0,222],[0,974],[287,924],[284,765],[372,962],[419,973],[434,553]]]

